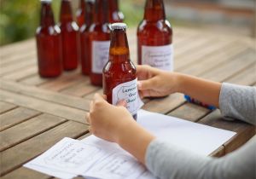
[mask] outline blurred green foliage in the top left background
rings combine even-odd
[[[52,6],[57,19],[60,1],[53,1]],[[39,18],[39,0],[0,0],[0,45],[32,38]]]

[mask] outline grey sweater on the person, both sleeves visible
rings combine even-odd
[[[219,106],[225,118],[256,124],[256,89],[223,84]],[[256,178],[256,136],[240,149],[220,159],[201,156],[166,141],[151,141],[146,166],[154,176],[166,178]]]

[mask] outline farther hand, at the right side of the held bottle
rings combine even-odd
[[[151,66],[137,66],[138,90],[143,97],[161,97],[177,92],[177,73]]]

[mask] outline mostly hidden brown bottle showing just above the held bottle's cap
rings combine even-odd
[[[119,1],[118,0],[108,0],[109,10],[109,22],[122,22],[124,20],[124,14],[119,11]]]

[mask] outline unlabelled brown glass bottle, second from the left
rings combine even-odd
[[[62,38],[63,68],[76,69],[79,65],[79,26],[73,21],[73,14],[69,0],[61,1],[60,27]]]

